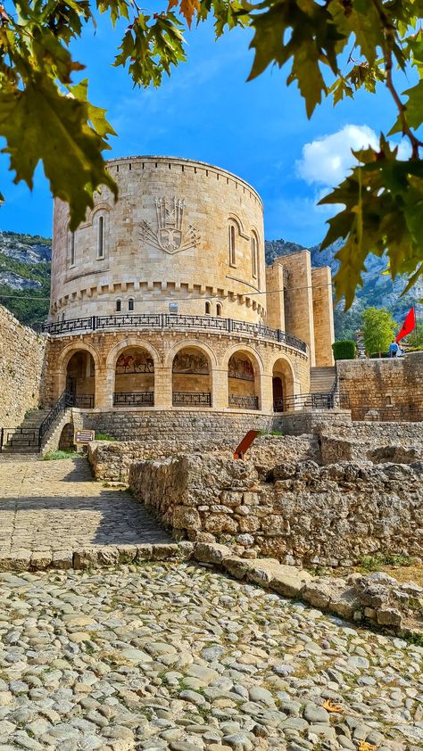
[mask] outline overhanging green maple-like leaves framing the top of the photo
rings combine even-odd
[[[334,104],[379,85],[392,95],[397,117],[377,149],[356,153],[357,164],[322,202],[343,204],[329,220],[323,247],[342,238],[336,295],[352,303],[369,252],[386,252],[391,275],[413,285],[423,273],[423,0],[167,0],[155,12],[136,0],[15,0],[0,5],[0,136],[15,181],[32,186],[42,161],[54,195],[69,202],[78,227],[100,186],[116,186],[103,152],[114,134],[103,110],[87,99],[84,65],[70,44],[95,12],[128,21],[115,65],[128,66],[134,83],[159,86],[163,74],[186,59],[183,32],[214,21],[216,37],[235,27],[253,30],[249,79],[270,65],[286,67],[308,117],[327,96]],[[9,7],[9,6],[8,6]],[[250,36],[250,35],[249,35]],[[395,75],[394,75],[395,71]],[[398,71],[398,72],[397,72]],[[407,86],[402,94],[397,80]],[[412,85],[410,86],[410,81]],[[410,158],[399,160],[387,136],[402,133]]]

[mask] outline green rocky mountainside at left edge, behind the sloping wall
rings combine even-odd
[[[46,237],[0,232],[0,302],[27,326],[46,320],[51,257]]]

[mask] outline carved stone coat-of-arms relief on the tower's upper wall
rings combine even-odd
[[[195,248],[200,242],[195,227],[188,225],[184,231],[184,210],[185,201],[181,198],[174,198],[171,206],[168,206],[165,198],[156,198],[155,208],[157,215],[156,231],[143,221],[141,223],[141,237],[145,243],[152,245],[154,248],[160,248],[166,253],[178,253],[187,251],[189,248]]]

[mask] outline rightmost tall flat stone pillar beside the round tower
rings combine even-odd
[[[332,275],[328,266],[311,269],[314,351],[317,367],[334,365],[332,342],[335,342]]]

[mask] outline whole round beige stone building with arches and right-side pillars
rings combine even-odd
[[[263,205],[203,162],[109,162],[75,232],[54,202],[46,394],[95,412],[271,414],[333,365],[329,268],[295,252],[266,268]]]

